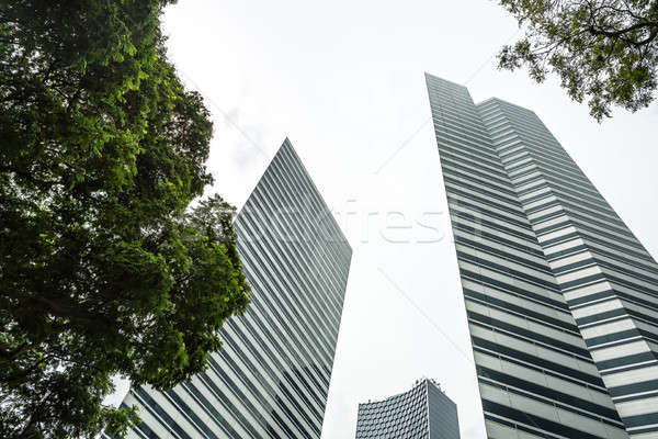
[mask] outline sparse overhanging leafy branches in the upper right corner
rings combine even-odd
[[[655,99],[657,0],[500,0],[525,36],[499,53],[499,67],[527,66],[542,82],[552,70],[571,99],[588,99],[599,122],[611,106],[635,112]]]

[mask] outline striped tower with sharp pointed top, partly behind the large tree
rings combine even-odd
[[[235,221],[251,304],[209,368],[132,389],[128,438],[319,438],[352,250],[286,139]]]

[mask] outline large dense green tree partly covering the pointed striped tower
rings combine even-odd
[[[2,438],[121,435],[111,378],[188,380],[248,304],[167,3],[0,0]]]

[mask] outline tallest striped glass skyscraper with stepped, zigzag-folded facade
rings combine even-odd
[[[489,438],[658,438],[658,264],[532,111],[427,85]]]

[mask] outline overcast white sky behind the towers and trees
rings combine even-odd
[[[517,25],[495,1],[180,0],[164,31],[213,113],[214,189],[241,206],[288,136],[354,250],[322,439],[420,376],[485,438],[424,71],[534,110],[658,255],[658,105],[599,125],[556,81],[498,71]]]

